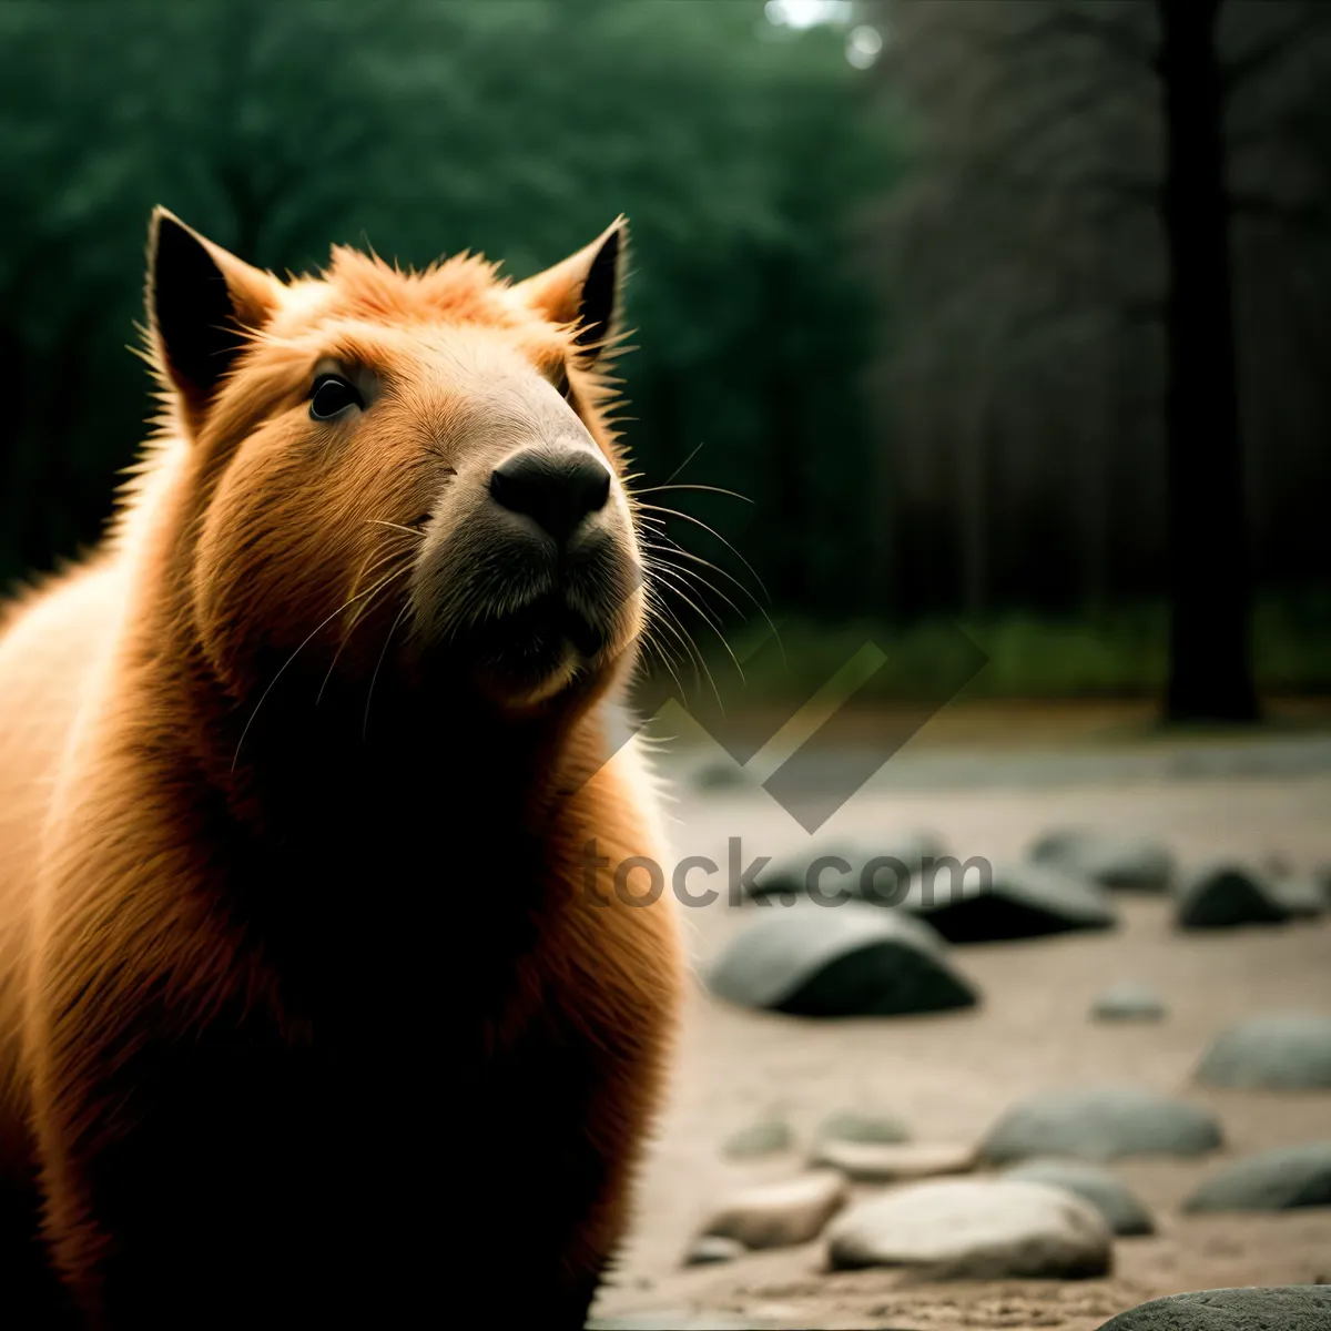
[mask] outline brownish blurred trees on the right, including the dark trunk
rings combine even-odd
[[[1331,9],[877,13],[912,137],[876,246],[893,602],[1167,598],[1167,715],[1252,719],[1254,583],[1267,639],[1327,626]]]

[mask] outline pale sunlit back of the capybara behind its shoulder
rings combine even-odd
[[[0,619],[0,1175],[28,1167],[19,1022],[41,824],[122,595],[121,566],[101,558],[29,592]]]

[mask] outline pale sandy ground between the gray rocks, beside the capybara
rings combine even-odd
[[[1296,866],[1331,861],[1331,772],[1266,779],[1166,776],[1101,784],[1069,780],[1012,788],[865,788],[823,829],[930,828],[961,857],[1021,855],[1050,825],[1086,824],[1158,835],[1183,864],[1278,852]],[[775,855],[803,831],[761,792],[688,793],[676,808],[676,852],[724,862]],[[719,882],[720,880],[717,880]],[[639,1219],[598,1316],[708,1311],[755,1326],[1058,1328],[1091,1331],[1150,1298],[1238,1284],[1331,1280],[1331,1210],[1260,1217],[1187,1217],[1179,1203],[1226,1158],[1331,1138],[1331,1091],[1206,1090],[1193,1073],[1213,1036],[1254,1013],[1331,1013],[1331,920],[1185,936],[1167,902],[1115,898],[1113,933],[956,948],[981,989],[958,1014],[815,1022],[727,1008],[692,984],[673,1097],[654,1145]],[[705,965],[752,905],[680,912],[691,957]],[[1170,1008],[1159,1025],[1089,1020],[1094,997],[1145,981]],[[1082,1282],[912,1282],[901,1271],[828,1274],[821,1244],[683,1270],[681,1254],[709,1206],[749,1181],[796,1174],[800,1151],[761,1162],[723,1158],[721,1143],[779,1110],[807,1143],[840,1109],[902,1117],[918,1141],[974,1142],[1013,1102],[1054,1087],[1137,1085],[1210,1106],[1227,1137],[1202,1161],[1115,1165],[1153,1211],[1158,1234],[1119,1239],[1114,1272]]]

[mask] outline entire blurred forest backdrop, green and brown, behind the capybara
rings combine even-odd
[[[783,687],[1328,692],[1328,73],[1320,0],[5,0],[0,579],[141,438],[154,204],[519,278],[623,212],[642,483],[747,498],[664,502]]]

